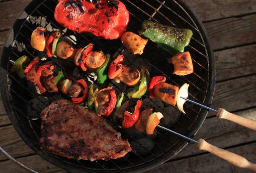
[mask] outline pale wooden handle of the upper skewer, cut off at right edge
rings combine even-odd
[[[223,108],[218,109],[218,113],[216,116],[219,118],[223,118],[223,119],[232,121],[234,123],[237,123],[241,126],[248,128],[248,129],[256,131],[256,121],[255,120],[245,118],[245,117],[242,117],[242,116],[239,116],[236,114],[232,114]]]

